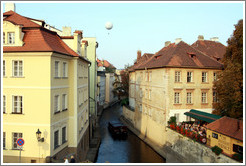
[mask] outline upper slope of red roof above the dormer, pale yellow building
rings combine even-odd
[[[15,25],[22,25],[24,28],[27,27],[41,27],[37,23],[32,22],[30,19],[23,17],[15,12],[8,11],[3,13],[3,16],[6,17],[3,19],[3,21],[9,21]]]

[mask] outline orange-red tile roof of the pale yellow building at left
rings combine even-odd
[[[58,52],[68,56],[80,57],[73,51],[61,37],[53,31],[45,29],[40,25],[33,23],[29,19],[21,16],[13,11],[5,12],[5,21],[23,25],[22,31],[25,33],[23,46],[4,46],[3,52]],[[88,60],[80,57],[89,62]],[[90,63],[90,62],[89,62]]]

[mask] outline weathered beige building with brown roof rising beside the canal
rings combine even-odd
[[[184,113],[190,109],[212,112],[217,101],[213,81],[222,67],[181,39],[166,42],[155,54],[141,56],[138,51],[129,74],[129,105],[135,111],[124,108],[124,116],[147,138],[164,145],[171,116],[182,122],[189,120]]]

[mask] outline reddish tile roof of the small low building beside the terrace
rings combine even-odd
[[[243,121],[222,117],[207,125],[207,128],[215,132],[227,135],[237,140],[243,141]]]

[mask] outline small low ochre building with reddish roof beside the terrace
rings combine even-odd
[[[243,121],[224,116],[208,124],[207,140],[208,146],[218,146],[229,156],[243,154]]]

